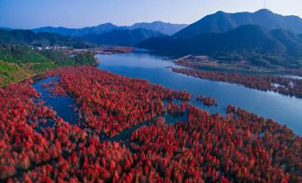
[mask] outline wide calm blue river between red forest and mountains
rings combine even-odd
[[[302,99],[288,97],[273,91],[257,91],[238,84],[226,84],[194,78],[172,72],[176,67],[170,60],[147,52],[127,54],[97,55],[101,62],[98,68],[133,78],[143,78],[152,84],[160,84],[173,90],[189,91],[196,95],[211,96],[218,107],[204,107],[211,113],[225,114],[225,108],[231,104],[287,124],[297,134],[302,134]]]

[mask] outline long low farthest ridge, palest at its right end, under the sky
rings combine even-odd
[[[171,24],[162,21],[154,21],[151,23],[135,23],[133,26],[116,26],[112,23],[105,23],[99,26],[94,27],[86,27],[86,28],[53,28],[53,27],[44,27],[44,28],[34,28],[35,32],[48,32],[48,33],[56,33],[63,36],[86,36],[90,34],[102,34],[107,33],[112,30],[117,29],[136,29],[136,28],[144,28],[156,32],[161,32],[166,35],[173,35],[182,28],[185,28],[187,25],[185,24]]]

